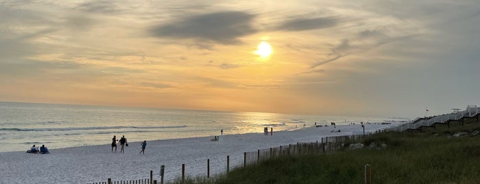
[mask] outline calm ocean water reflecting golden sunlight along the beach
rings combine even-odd
[[[0,102],[0,152],[110,144],[113,135],[128,142],[224,134],[263,133],[263,128],[295,130],[335,122],[383,122],[376,117],[334,117],[197,111],[165,108],[84,106]]]

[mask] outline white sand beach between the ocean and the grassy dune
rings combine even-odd
[[[399,123],[369,124],[365,132],[396,126]],[[0,183],[93,183],[148,179],[150,170],[154,179],[159,180],[161,165],[165,165],[165,180],[181,176],[181,165],[185,164],[188,176],[207,175],[207,159],[210,159],[210,174],[226,172],[227,155],[230,169],[243,163],[243,152],[288,145],[297,142],[321,141],[322,137],[362,133],[360,125],[336,126],[340,133],[331,133],[333,126],[299,128],[293,131],[224,135],[220,141],[213,137],[168,139],[152,141],[147,139],[145,154],[139,154],[140,141],[130,140],[125,154],[111,152],[110,144],[76,148],[50,149],[50,154],[19,152],[0,153]],[[126,135],[128,137],[128,135]],[[108,141],[108,139],[106,140]],[[133,142],[135,141],[135,142]],[[48,145],[46,145],[48,147]]]

